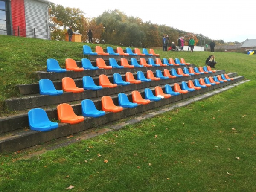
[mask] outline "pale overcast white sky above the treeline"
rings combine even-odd
[[[225,42],[256,39],[256,0],[49,0],[79,8],[85,17],[119,9],[143,22],[165,24]]]

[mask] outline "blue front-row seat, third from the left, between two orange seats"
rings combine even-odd
[[[99,111],[96,109],[94,103],[90,99],[84,99],[81,102],[82,107],[82,116],[88,116],[88,117],[100,117],[105,115],[105,111]]]

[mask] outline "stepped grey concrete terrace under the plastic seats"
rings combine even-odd
[[[103,58],[105,63],[109,65],[109,58],[115,58],[118,64],[120,64],[121,58],[127,58],[130,62],[131,58],[136,58],[140,62],[140,57],[145,58],[148,61],[148,58],[156,60],[159,56],[123,56],[123,55],[90,55],[89,59],[91,63],[96,66],[96,58]],[[81,67],[81,61],[76,61],[78,67]],[[113,74],[119,73],[122,76],[122,79],[125,81],[125,73],[131,72],[134,74],[134,78],[137,79],[137,71],[142,71],[145,76],[147,70],[153,71],[154,75],[156,70],[159,69],[162,71],[164,69],[171,70],[172,68],[177,70],[178,68],[183,69],[184,67],[195,67],[194,64],[190,65],[180,65],[180,66],[153,66],[153,67],[134,67],[134,68],[112,68],[112,69],[98,69],[98,70],[84,70],[80,72],[67,71],[65,73],[54,73],[47,71],[38,71],[39,79],[50,79],[53,81],[53,84],[56,89],[62,90],[62,81],[64,77],[70,77],[74,79],[77,87],[82,86],[82,77],[91,76],[94,82],[99,85],[99,75],[105,74],[108,76],[109,80],[113,82]],[[84,90],[81,93],[71,93],[64,92],[62,95],[58,96],[48,96],[39,94],[39,84],[23,84],[19,85],[20,94],[22,96],[18,98],[7,99],[6,107],[11,111],[19,111],[19,113],[10,116],[0,117],[0,153],[3,152],[12,152],[22,150],[40,143],[44,143],[53,139],[60,137],[65,137],[70,134],[78,133],[79,131],[84,131],[95,126],[104,125],[109,122],[113,122],[134,114],[143,113],[145,111],[168,105],[170,103],[178,102],[189,97],[193,97],[202,93],[206,93],[221,87],[234,84],[238,81],[243,81],[243,76],[238,76],[237,73],[229,73],[230,78],[234,78],[233,81],[227,81],[221,84],[212,85],[210,87],[202,88],[200,90],[195,90],[186,94],[180,94],[178,96],[171,96],[167,99],[161,99],[160,101],[151,101],[148,105],[138,105],[135,108],[124,108],[123,111],[118,113],[106,112],[104,116],[99,118],[84,117],[84,121],[79,124],[70,125],[68,123],[59,123],[59,127],[55,130],[48,132],[33,131],[29,129],[28,123],[28,111],[32,108],[43,108],[47,112],[49,119],[58,119],[57,114],[57,105],[61,103],[70,103],[74,112],[77,115],[81,115],[81,101],[84,99],[91,99],[96,108],[102,110],[101,97],[110,96],[113,99],[115,105],[118,105],[118,93],[125,93],[128,96],[128,99],[132,101],[131,92],[133,90],[138,90],[141,95],[144,97],[145,88],[150,88],[153,90],[156,86],[160,86],[164,90],[166,84],[170,84],[173,87],[174,83],[181,85],[182,81],[189,81],[193,79],[200,79],[209,76],[217,76],[224,74],[225,70],[217,70],[215,73],[205,73],[194,76],[182,76],[177,78],[161,79],[160,81],[148,81],[141,82],[140,84],[129,84],[125,86],[118,86],[115,88],[103,87],[102,90]]]

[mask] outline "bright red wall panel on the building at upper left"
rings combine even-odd
[[[12,29],[15,36],[26,37],[24,0],[11,0]],[[19,27],[18,27],[19,26]],[[19,28],[19,31],[18,31]]]

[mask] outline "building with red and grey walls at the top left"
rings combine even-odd
[[[0,0],[0,35],[50,40],[48,0]]]

